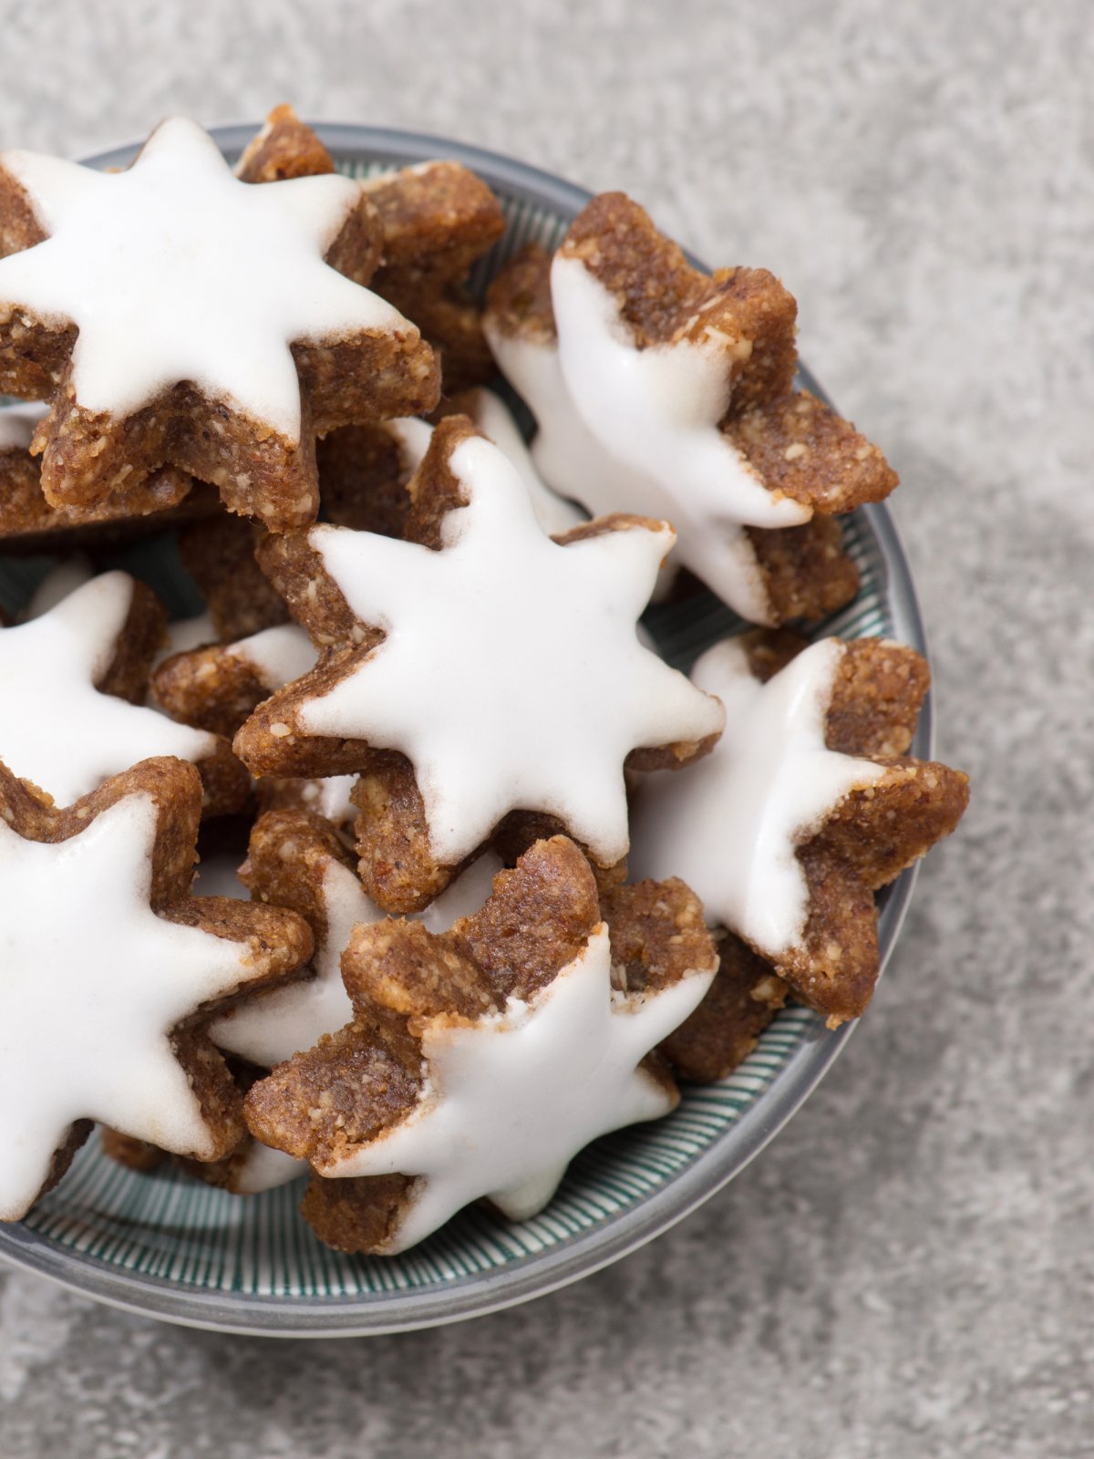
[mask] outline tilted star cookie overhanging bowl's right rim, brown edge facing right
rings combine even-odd
[[[878,978],[874,893],[947,836],[969,781],[906,757],[923,659],[884,639],[745,635],[709,649],[694,683],[726,706],[706,765],[643,785],[632,865],[668,868],[830,1027]]]

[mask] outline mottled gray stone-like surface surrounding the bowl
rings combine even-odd
[[[0,146],[169,109],[391,123],[623,187],[801,302],[904,477],[974,805],[864,1027],[652,1247],[368,1342],[0,1275],[3,1459],[1094,1453],[1094,28],[1087,0],[0,0]]]

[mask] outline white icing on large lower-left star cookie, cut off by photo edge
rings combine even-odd
[[[0,821],[0,1220],[25,1214],[77,1119],[214,1154],[169,1033],[254,963],[247,943],[152,912],[155,837],[143,792],[55,845]]]

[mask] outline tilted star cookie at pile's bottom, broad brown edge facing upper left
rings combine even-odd
[[[716,954],[697,900],[678,884],[661,893],[620,902],[617,957],[588,862],[554,837],[446,934],[354,929],[341,960],[353,1021],[245,1102],[252,1134],[344,1186],[305,1198],[324,1240],[404,1250],[483,1198],[521,1220],[589,1139],[674,1107],[651,1050],[696,1005]]]

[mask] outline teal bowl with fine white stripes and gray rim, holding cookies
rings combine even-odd
[[[484,286],[529,239],[554,247],[588,194],[534,168],[438,137],[371,127],[317,128],[338,166],[366,175],[430,158],[455,158],[492,184],[509,228],[477,268]],[[254,127],[216,133],[229,156]],[[134,149],[92,159],[125,165]],[[810,388],[817,384],[807,378]],[[884,633],[925,651],[907,563],[884,506],[847,522],[862,591],[817,635]],[[193,588],[169,544],[144,544],[125,566],[149,578],[175,613],[195,611]],[[10,607],[48,562],[0,566]],[[661,605],[648,626],[681,667],[738,626],[713,597]],[[929,713],[913,753],[929,756]],[[912,893],[906,872],[881,905],[888,956]],[[298,1185],[230,1196],[168,1170],[134,1174],[90,1141],[71,1172],[20,1226],[0,1227],[0,1255],[120,1307],[229,1332],[333,1336],[395,1332],[493,1312],[575,1281],[651,1240],[731,1180],[814,1088],[850,1034],[826,1033],[804,1008],[783,1010],[759,1048],[719,1084],[684,1088],[658,1123],[597,1141],[573,1161],[548,1208],[509,1224],[468,1210],[404,1256],[341,1256],[298,1214]]]

